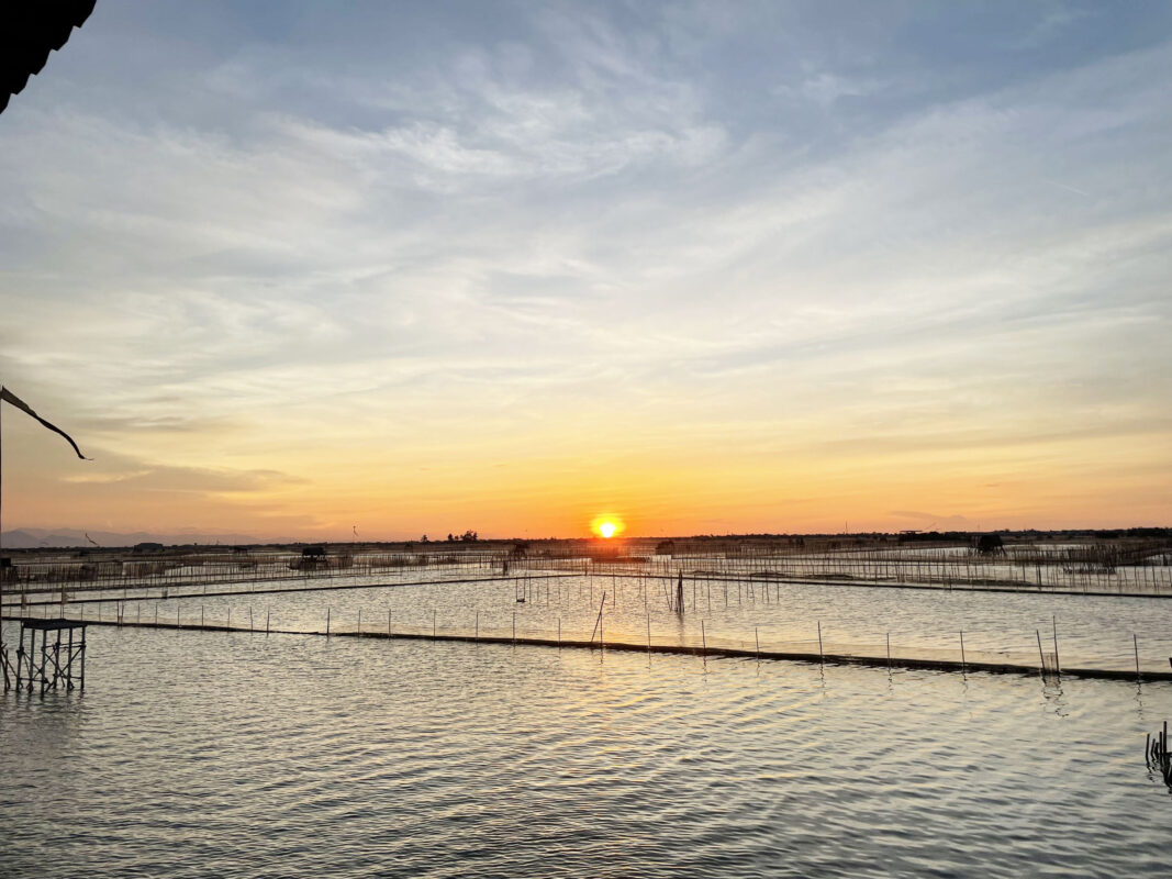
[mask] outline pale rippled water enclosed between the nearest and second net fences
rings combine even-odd
[[[336,585],[338,581],[334,581]],[[361,582],[361,581],[357,581]],[[527,587],[527,588],[526,588]],[[523,591],[527,600],[515,597]],[[709,645],[818,652],[818,626],[827,653],[883,656],[890,634],[894,655],[960,660],[960,632],[972,661],[1038,663],[1038,634],[1049,653],[1057,626],[1059,656],[1067,667],[1133,669],[1136,646],[1142,668],[1168,672],[1172,656],[1172,600],[1110,595],[963,592],[871,588],[843,585],[745,584],[686,580],[686,613],[668,609],[666,591],[675,582],[611,577],[519,578],[462,585],[369,587],[323,592],[198,597],[125,605],[124,619],[205,621],[273,628],[353,631],[359,613],[368,632],[396,631],[553,638],[560,622],[566,638],[586,640],[594,631],[602,593],[608,595],[604,629],[609,640]],[[646,602],[645,602],[646,599]],[[108,602],[105,619],[116,615]],[[57,608],[48,608],[53,613]],[[77,609],[71,609],[76,614]],[[88,605],[86,615],[98,611]],[[704,634],[701,633],[704,621]],[[1133,640],[1134,639],[1134,640]]]

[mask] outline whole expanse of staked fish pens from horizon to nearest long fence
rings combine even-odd
[[[53,627],[411,638],[1172,680],[1172,642],[1158,619],[1167,607],[1163,601],[1143,605],[1152,608],[1146,628],[1129,616],[1109,634],[1074,638],[1059,631],[1059,619],[1064,626],[1069,614],[1086,627],[1102,612],[1035,615],[1031,627],[1021,629],[1014,615],[1021,611],[999,611],[1018,599],[995,594],[1068,598],[1081,607],[1084,601],[1167,598],[1170,556],[1167,543],[1154,540],[982,550],[809,538],[438,544],[394,551],[346,545],[150,554],[42,551],[13,553],[2,568],[2,609],[22,631],[42,631],[52,620]],[[898,618],[915,595],[927,600],[949,592],[970,594],[993,616],[979,631],[956,625],[948,632],[941,629],[953,620],[939,611],[911,631],[911,624],[878,631],[865,615],[846,625],[831,621],[846,594],[866,606],[886,601],[885,613]],[[831,594],[833,604],[822,609],[798,609]],[[29,654],[22,655],[27,672]],[[50,667],[45,660],[38,666],[42,674]]]

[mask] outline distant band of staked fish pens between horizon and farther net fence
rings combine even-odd
[[[421,579],[475,579],[511,572],[621,574],[729,581],[837,582],[950,590],[1172,597],[1172,541],[954,543],[864,539],[613,540],[418,544],[411,548],[332,545],[25,551],[2,568],[11,602],[77,600],[176,591],[193,594]],[[230,587],[230,588],[222,588]]]

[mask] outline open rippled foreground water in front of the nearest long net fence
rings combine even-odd
[[[12,877],[1164,875],[1172,687],[95,629],[0,700]]]

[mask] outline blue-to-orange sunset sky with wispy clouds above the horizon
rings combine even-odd
[[[0,115],[4,527],[1172,525],[1172,6],[125,2]]]

